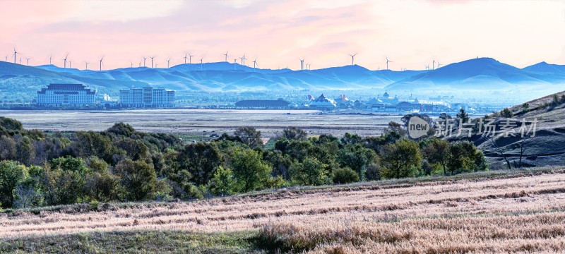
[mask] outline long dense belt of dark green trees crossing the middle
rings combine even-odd
[[[308,137],[285,128],[263,144],[238,128],[210,142],[141,133],[125,123],[102,132],[42,133],[0,117],[0,207],[76,202],[194,200],[285,186],[326,185],[486,170],[468,142],[405,138],[398,123],[378,137]]]

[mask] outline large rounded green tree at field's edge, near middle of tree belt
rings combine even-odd
[[[263,188],[270,177],[270,167],[261,161],[256,150],[236,147],[231,155],[231,168],[239,186],[239,191],[248,192]]]

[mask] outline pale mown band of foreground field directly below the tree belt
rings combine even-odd
[[[320,224],[327,228],[328,224],[343,226],[346,221],[381,223],[448,217],[561,214],[565,211],[564,182],[563,171],[555,171],[553,174],[521,174],[494,179],[400,183],[379,188],[366,186],[350,188],[350,191],[328,188],[198,202],[145,203],[140,206],[101,204],[97,210],[78,213],[44,210],[35,214],[16,210],[0,215],[0,237],[129,230],[229,232],[266,230],[288,224]]]

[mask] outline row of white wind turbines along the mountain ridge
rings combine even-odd
[[[228,54],[228,53],[229,53],[229,52],[225,52],[225,54],[222,54],[222,56],[224,56],[224,61],[225,61],[225,62],[229,62],[229,61],[227,60],[228,57],[229,57],[229,54]],[[18,54],[20,55],[19,64],[22,64],[22,56],[21,56],[22,54],[21,54],[20,52],[16,51],[16,48],[13,49],[13,63],[16,63],[16,60],[17,60],[17,59],[16,59],[16,56],[17,56]],[[184,57],[182,58],[182,59],[184,59],[184,64],[187,63],[187,60],[188,60],[188,63],[191,64],[191,63],[192,63],[192,57],[193,57],[193,56],[194,56],[193,54],[190,54],[190,53],[186,52],[186,53],[184,54]],[[352,65],[352,66],[355,65],[355,56],[357,56],[357,53],[355,53],[355,54],[348,54],[348,56],[351,56],[351,65]],[[69,57],[69,53],[67,53],[67,54],[65,55],[65,58],[64,58],[64,59],[61,59],[61,61],[63,61],[63,68],[66,68],[66,63],[67,63],[68,57]],[[105,56],[102,56],[102,58],[100,58],[100,60],[98,61],[98,62],[100,63],[100,71],[102,71],[102,66],[104,66],[104,57],[105,57]],[[30,60],[31,60],[31,58],[25,58],[25,59],[27,60],[27,64],[26,64],[26,65],[29,66],[29,65],[30,65]],[[138,68],[141,68],[141,63],[142,63],[142,62],[143,62],[143,67],[147,67],[146,61],[147,61],[148,59],[151,59],[151,68],[157,68],[157,66],[158,66],[158,63],[155,63],[155,67],[154,67],[154,65],[153,65],[153,60],[155,59],[155,56],[149,56],[149,57],[141,56],[141,59],[143,59],[143,60],[139,61],[139,63],[138,63]],[[249,60],[249,59],[247,59],[247,58],[245,57],[245,54],[244,54],[242,57],[235,58],[235,59],[234,59],[234,69],[237,68],[237,64],[236,64],[236,63],[237,63],[237,59],[240,60],[240,64],[241,64],[242,66],[246,66],[245,60]],[[388,56],[385,56],[385,59],[386,59],[386,61],[385,61],[386,70],[390,70],[390,69],[388,68],[388,63],[392,63],[393,61],[389,60],[389,59],[388,59]],[[8,55],[6,55],[6,57],[5,57],[4,60],[5,60],[6,62],[8,61]],[[203,70],[203,60],[204,60],[204,57],[201,56],[201,59],[200,59],[201,70]],[[171,58],[169,57],[169,59],[167,59],[167,68],[170,67],[170,61],[171,61]],[[300,70],[301,70],[301,71],[303,71],[303,70],[311,70],[311,63],[304,63],[304,58],[299,59],[299,61],[300,61]],[[258,67],[257,59],[255,58],[254,61],[252,61],[252,63],[253,63],[253,68],[256,69],[256,68]],[[439,63],[439,61],[436,61],[435,58],[432,60],[432,68],[429,67],[429,63],[426,64],[426,65],[424,65],[424,67],[425,67],[426,70],[434,70],[434,69],[436,69],[436,63],[437,63],[437,68],[440,68],[442,64]],[[49,64],[52,64],[52,56],[49,56]],[[89,64],[89,62],[85,61],[85,70],[88,70],[88,64]],[[304,66],[305,66],[305,67],[304,67]],[[72,67],[71,67],[71,60],[69,60],[69,68],[72,68]],[[130,63],[130,68],[133,68],[133,62]],[[287,66],[287,68],[288,68],[288,66]],[[280,69],[280,67],[279,67],[279,69]],[[381,67],[379,66],[379,70],[380,70],[380,69],[381,69]],[[406,71],[406,68],[400,68],[400,71]]]

